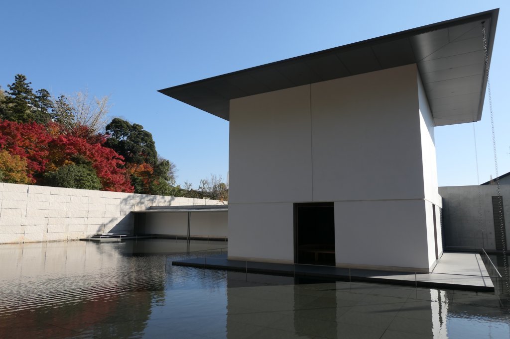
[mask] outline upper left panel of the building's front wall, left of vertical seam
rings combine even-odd
[[[229,203],[312,200],[310,86],[231,101]]]

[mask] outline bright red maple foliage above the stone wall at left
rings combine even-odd
[[[111,148],[104,147],[106,138],[60,135],[37,123],[0,122],[0,150],[7,150],[27,160],[29,178],[40,180],[46,171],[72,163],[73,156],[82,156],[91,162],[103,189],[107,191],[133,192],[124,158]]]

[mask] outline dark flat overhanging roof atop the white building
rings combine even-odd
[[[230,100],[417,64],[436,126],[481,119],[499,9],[169,87],[159,92],[228,120]]]

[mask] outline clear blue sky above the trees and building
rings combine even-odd
[[[177,183],[226,178],[228,122],[158,92],[293,56],[500,8],[491,85],[499,174],[510,171],[506,1],[23,1],[0,11],[0,85],[22,73],[54,96],[111,95],[152,133]],[[488,100],[475,124],[480,182],[495,174]],[[440,186],[476,185],[473,124],[437,127]]]

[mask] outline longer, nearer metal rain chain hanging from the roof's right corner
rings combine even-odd
[[[499,220],[500,220],[500,231],[501,231],[501,244],[503,247],[503,272],[504,276],[503,279],[505,280],[505,291],[504,293],[506,295],[510,295],[510,282],[508,281],[510,279],[510,275],[508,274],[508,260],[506,257],[506,233],[505,231],[505,225],[503,223],[503,206],[502,202],[503,200],[501,198],[501,187],[499,185],[499,174],[498,174],[498,155],[496,153],[496,136],[494,133],[494,115],[492,110],[492,96],[491,96],[491,83],[489,81],[489,51],[488,51],[488,43],[487,43],[487,31],[485,30],[485,25],[482,22],[481,23],[481,30],[483,33],[483,50],[485,54],[485,71],[487,73],[487,91],[489,93],[489,109],[491,112],[491,130],[492,130],[492,148],[494,151],[494,165],[496,167],[496,186],[498,191],[498,210],[499,210]],[[496,226],[496,225],[494,225]],[[509,305],[510,306],[510,305]]]

